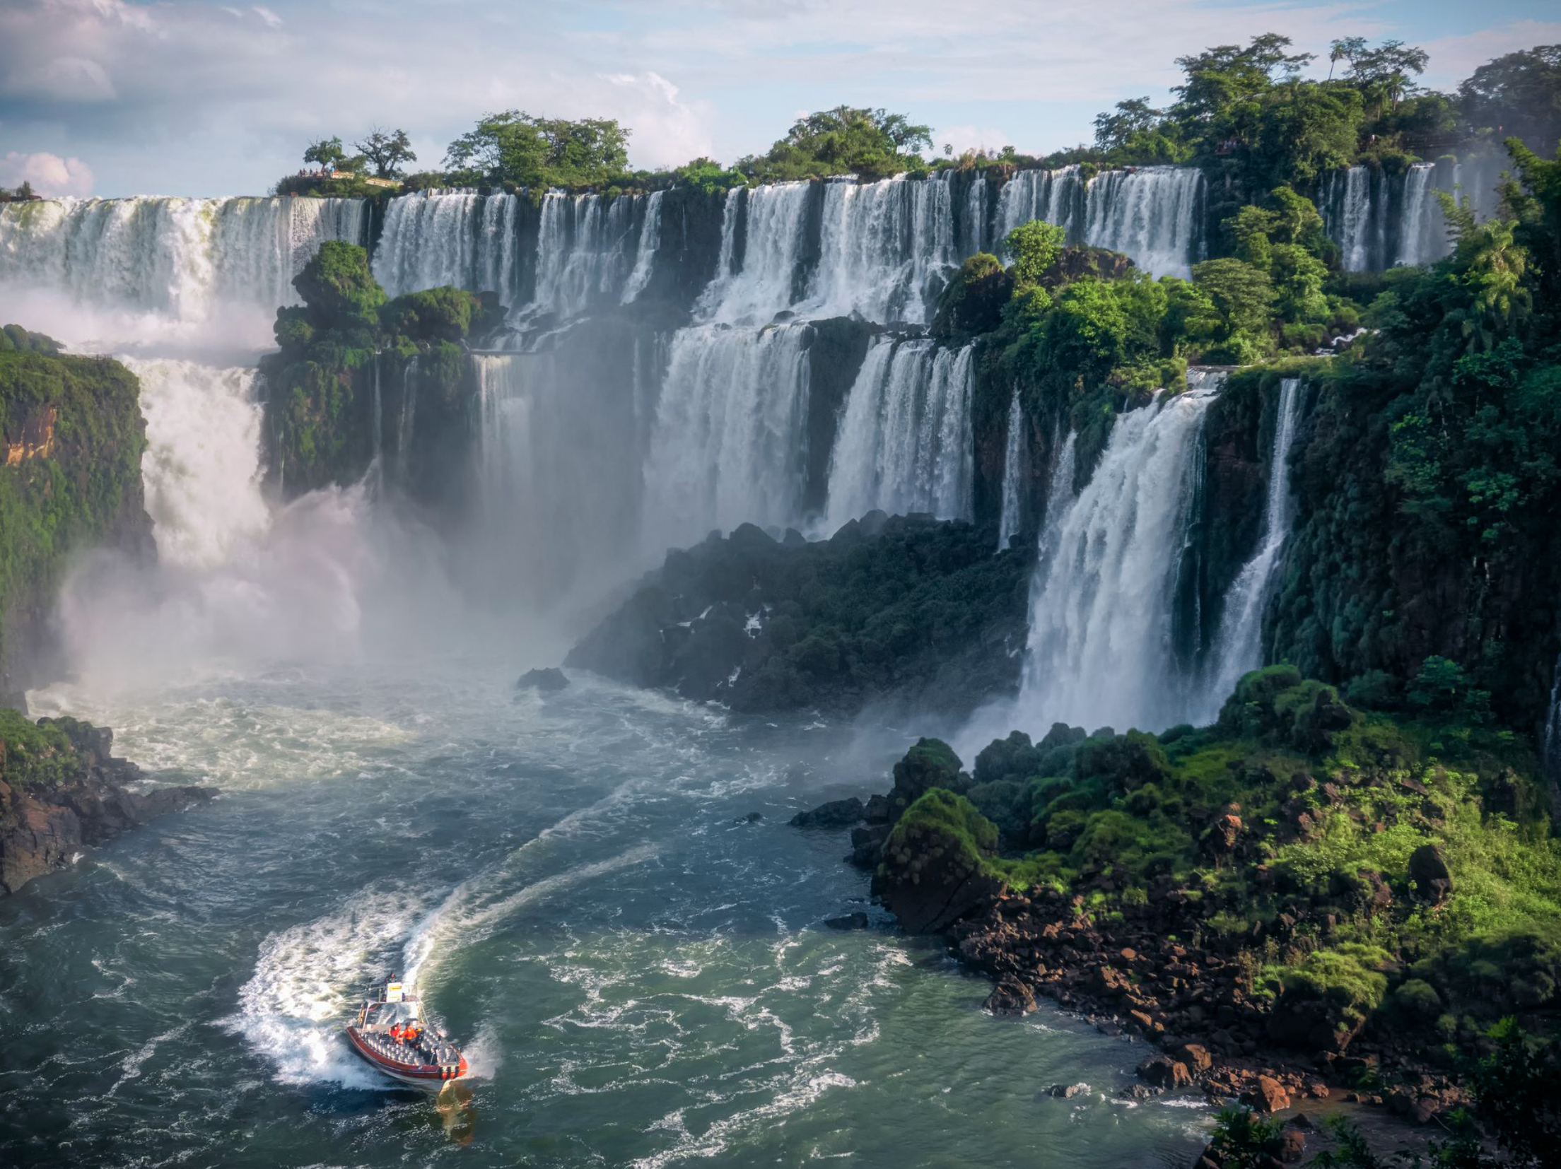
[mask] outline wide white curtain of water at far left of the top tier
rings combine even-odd
[[[225,307],[270,314],[328,239],[362,242],[356,198],[114,198],[0,204],[0,284],[33,300],[201,325]],[[256,320],[261,315],[256,314]],[[139,331],[130,331],[139,340]]]

